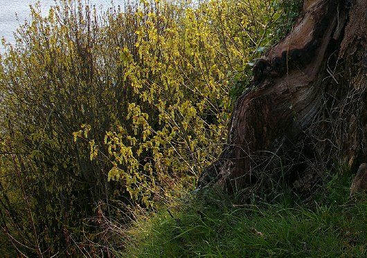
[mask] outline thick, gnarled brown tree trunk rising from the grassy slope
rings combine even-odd
[[[367,0],[309,0],[292,31],[253,68],[226,148],[199,186],[310,190],[330,166],[366,158]],[[247,191],[249,192],[249,191]]]

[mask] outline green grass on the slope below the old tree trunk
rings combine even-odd
[[[367,201],[348,201],[335,175],[312,200],[285,190],[274,201],[235,205],[213,190],[141,216],[121,257],[367,257]],[[366,200],[366,199],[365,199]]]

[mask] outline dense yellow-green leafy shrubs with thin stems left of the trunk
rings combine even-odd
[[[193,188],[220,154],[247,63],[275,26],[287,21],[274,40],[289,30],[291,3],[32,7],[0,55],[0,215],[17,255],[102,255],[101,218]]]

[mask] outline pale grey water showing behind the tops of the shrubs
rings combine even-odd
[[[54,0],[40,0],[42,16],[48,15],[50,6],[55,5]],[[84,1],[82,1],[84,2]],[[123,1],[114,1],[119,4]],[[24,19],[30,21],[30,5],[35,6],[36,0],[0,0],[0,38],[5,37],[6,42],[14,43],[13,33],[24,24]],[[106,10],[111,6],[111,0],[89,0],[89,5],[96,5],[98,10]],[[3,46],[0,44],[0,53]]]

